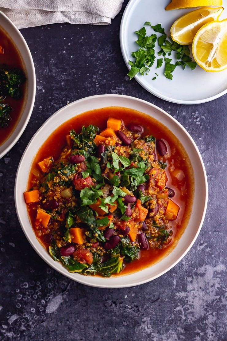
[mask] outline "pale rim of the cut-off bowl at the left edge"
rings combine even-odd
[[[22,124],[22,127],[20,128],[19,132],[16,134],[16,136],[13,138],[13,141],[8,145],[6,146],[6,148],[0,152],[0,159],[5,155],[7,154],[7,152],[9,152],[13,146],[17,143],[17,141],[19,140],[19,138],[21,137],[21,135],[23,134],[23,132],[25,131],[25,128],[27,127],[28,125],[28,122],[30,120],[30,117],[31,117],[31,114],[32,114],[32,111],[33,111],[33,107],[34,107],[34,103],[35,103],[35,93],[36,93],[36,76],[35,76],[35,66],[34,66],[34,62],[33,62],[33,58],[32,58],[32,55],[31,55],[31,52],[30,52],[30,49],[28,47],[28,44],[25,40],[25,38],[23,37],[23,35],[20,33],[20,31],[18,30],[18,28],[12,23],[12,21],[2,12],[0,11],[0,17],[3,17],[7,24],[9,24],[13,30],[15,30],[16,34],[19,36],[19,39],[21,40],[21,43],[23,44],[23,47],[25,48],[25,51],[26,51],[26,54],[28,56],[28,59],[29,59],[29,62],[30,62],[30,65],[29,65],[29,69],[31,72],[31,75],[30,75],[30,82],[29,82],[29,88],[28,88],[28,94],[31,93],[31,98],[30,98],[30,104],[28,104],[28,99],[29,99],[29,96],[27,98],[27,102],[25,103],[25,106],[23,107],[23,110],[22,110],[22,113],[21,113],[21,117],[19,118],[13,132],[11,133],[11,135],[9,135],[6,140],[3,142],[3,144],[1,146],[4,146],[4,144],[7,143],[7,141],[9,140],[9,138],[11,138],[14,133],[15,133],[15,130],[16,130],[16,127],[17,125],[19,124],[19,122],[21,121],[22,119],[22,116],[25,112],[25,109],[26,111],[28,111],[28,114],[27,114],[27,117],[25,117],[23,120],[23,124]],[[0,24],[0,26],[5,30],[5,28]],[[6,30],[5,30],[6,31]],[[7,31],[6,31],[7,32]],[[9,35],[10,36],[10,35]],[[11,38],[11,36],[10,36]],[[12,39],[12,38],[11,38]],[[20,50],[17,46],[17,44],[15,43],[15,41],[13,40],[13,43],[15,44],[15,46],[17,47],[17,50],[20,54]],[[26,68],[26,71],[27,70],[27,65],[25,64],[23,58],[22,58],[22,55],[20,54],[20,58],[22,60],[22,63],[23,65],[25,66]]]

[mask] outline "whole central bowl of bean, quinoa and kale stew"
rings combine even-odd
[[[195,242],[207,177],[188,132],[125,95],[87,97],[37,131],[18,166],[23,232],[55,270],[96,287],[153,280]]]

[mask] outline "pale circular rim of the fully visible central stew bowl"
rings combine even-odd
[[[27,150],[29,149],[30,145],[32,144],[33,140],[36,138],[36,136],[39,134],[39,132],[45,127],[45,125],[48,125],[49,121],[53,118],[55,118],[59,113],[61,113],[62,110],[65,110],[65,108],[69,108],[69,106],[73,106],[75,104],[80,104],[84,101],[90,101],[92,99],[97,99],[97,98],[121,98],[121,99],[128,99],[128,100],[132,100],[132,101],[136,101],[136,102],[139,102],[139,103],[142,103],[142,104],[145,104],[145,105],[148,105],[150,106],[151,108],[153,109],[157,109],[159,111],[161,111],[164,115],[166,115],[169,119],[171,119],[177,126],[178,128],[180,128],[180,130],[182,130],[186,135],[187,137],[190,139],[190,142],[192,143],[193,147],[194,147],[194,150],[196,151],[196,156],[199,158],[200,160],[200,166],[202,168],[202,173],[203,173],[203,176],[204,176],[204,183],[205,183],[205,196],[204,196],[204,205],[203,205],[203,213],[202,213],[202,216],[201,216],[201,219],[200,219],[200,223],[198,225],[198,228],[197,228],[197,231],[195,233],[195,236],[194,238],[192,239],[192,241],[190,242],[189,246],[187,249],[185,249],[185,251],[177,258],[177,260],[172,263],[171,265],[167,266],[163,271],[161,271],[160,273],[158,273],[157,275],[154,275],[152,276],[151,278],[149,279],[144,279],[144,280],[139,280],[139,281],[136,281],[135,283],[124,283],[124,284],[108,284],[107,278],[102,278],[103,279],[103,283],[101,284],[94,284],[92,283],[92,281],[86,281],[87,278],[95,278],[94,276],[82,276],[79,274],[79,276],[76,278],[76,276],[74,277],[75,273],[70,273],[68,272],[63,266],[61,267],[58,267],[57,265],[59,264],[59,262],[55,262],[51,256],[47,253],[47,251],[45,250],[45,248],[42,246],[42,250],[39,251],[36,247],[36,245],[34,244],[34,242],[31,240],[31,238],[29,237],[29,231],[32,231],[33,234],[34,234],[34,231],[31,227],[31,224],[29,224],[29,228],[31,228],[31,230],[27,231],[27,228],[26,226],[23,224],[23,221],[22,221],[22,218],[21,218],[21,214],[20,214],[20,210],[19,210],[19,205],[18,203],[20,202],[20,196],[19,196],[19,191],[17,190],[17,187],[19,185],[19,175],[20,175],[20,172],[21,172],[21,168],[22,168],[22,165],[23,165],[23,159],[25,158],[26,156],[26,152]],[[115,105],[115,106],[120,106],[120,105]],[[103,106],[103,107],[106,107],[106,106]],[[95,109],[95,108],[93,108]],[[92,109],[88,109],[88,110],[92,110]],[[87,111],[87,110],[86,110]],[[139,111],[139,110],[138,110]],[[79,115],[79,114],[82,114],[82,112],[80,113],[75,113],[75,116]],[[149,114],[147,114],[149,115]],[[68,119],[70,119],[71,117],[73,116],[70,116]],[[67,120],[68,120],[67,119]],[[61,125],[62,123],[66,122],[67,120],[64,120],[63,122],[59,123],[59,125]],[[54,128],[52,130],[52,132],[57,129],[57,128]],[[48,135],[49,136],[49,135]],[[48,138],[47,136],[47,138]],[[45,141],[43,141],[44,143]],[[43,144],[42,143],[42,144]],[[39,147],[40,148],[40,147]],[[33,155],[33,159],[36,155],[38,150],[36,150],[36,152],[34,153]],[[30,163],[30,166],[33,162],[33,159]],[[30,168],[29,168],[30,170]],[[207,183],[207,175],[206,175],[206,170],[205,170],[205,166],[204,166],[204,162],[202,160],[202,157],[200,155],[200,152],[194,142],[194,140],[192,139],[191,135],[187,132],[187,130],[185,130],[185,128],[174,118],[172,117],[170,114],[166,113],[165,110],[159,108],[158,106],[152,104],[152,103],[149,103],[147,101],[144,101],[142,99],[138,99],[138,98],[135,98],[135,97],[131,97],[131,96],[127,96],[127,95],[118,95],[118,94],[102,94],[102,95],[93,95],[93,96],[89,96],[89,97],[85,97],[85,98],[82,98],[82,99],[79,99],[77,101],[74,101],[74,102],[71,102],[70,104],[67,104],[66,106],[60,108],[58,111],[56,111],[52,116],[50,116],[43,124],[42,126],[37,130],[37,132],[33,135],[33,137],[31,138],[29,144],[27,145],[22,157],[21,157],[21,160],[20,160],[20,163],[18,165],[18,169],[17,169],[17,173],[16,173],[16,178],[15,178],[15,189],[14,189],[14,197],[15,197],[15,208],[16,208],[16,213],[17,213],[17,217],[18,217],[18,220],[19,220],[19,223],[21,225],[21,228],[25,234],[25,236],[27,237],[29,243],[31,244],[31,246],[33,247],[33,249],[36,251],[36,253],[38,253],[38,255],[49,265],[51,266],[54,270],[60,272],[62,275],[78,282],[78,283],[81,283],[81,284],[85,284],[85,285],[88,285],[88,286],[93,286],[93,287],[101,287],[101,288],[122,288],[122,287],[130,287],[130,286],[135,286],[135,285],[140,285],[140,284],[143,284],[143,283],[146,283],[146,282],[149,282],[151,280],[154,280],[162,275],[164,275],[164,273],[166,273],[167,271],[169,271],[170,269],[172,269],[177,263],[179,263],[182,258],[188,253],[188,251],[191,249],[191,247],[193,246],[195,240],[197,239],[198,237],[198,234],[201,230],[201,227],[202,227],[202,224],[204,222],[204,219],[205,219],[205,214],[206,214],[206,209],[207,209],[207,202],[208,202],[208,183]],[[34,234],[35,236],[35,234]],[[182,237],[182,236],[181,236]],[[180,238],[181,238],[180,237]],[[35,240],[36,242],[38,242],[37,238],[35,237]],[[39,243],[39,242],[38,242]],[[40,244],[40,243],[39,243]],[[41,244],[40,244],[41,245]],[[176,247],[175,247],[176,248]],[[174,248],[174,249],[175,249]],[[173,249],[173,250],[174,250]],[[172,252],[173,252],[172,250]],[[171,252],[171,253],[172,253]],[[167,258],[167,257],[166,257]],[[159,262],[158,262],[159,263]],[[152,267],[152,266],[151,266]],[[144,269],[143,269],[144,270]],[[143,270],[140,270],[140,271],[143,271]],[[67,272],[65,272],[67,271]],[[138,271],[138,272],[140,272]],[[136,273],[136,272],[135,272]],[[125,275],[124,277],[127,277],[127,276],[130,276],[130,275],[133,275],[133,273],[129,274],[129,275]],[[121,277],[123,278],[123,276]],[[111,278],[110,278],[111,279]],[[106,282],[106,283],[105,283]]]

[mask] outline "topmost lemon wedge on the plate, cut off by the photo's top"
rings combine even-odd
[[[178,10],[182,8],[202,7],[202,6],[221,6],[222,0],[172,0],[165,10]]]

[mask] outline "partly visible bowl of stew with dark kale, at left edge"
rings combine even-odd
[[[0,158],[25,130],[35,100],[35,69],[28,45],[0,12]]]

